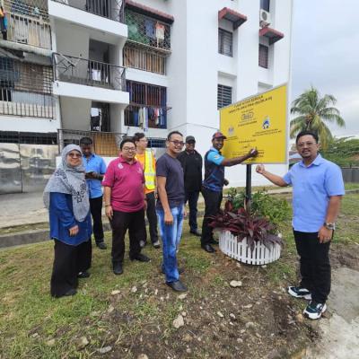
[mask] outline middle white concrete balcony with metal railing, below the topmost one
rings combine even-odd
[[[53,92],[58,96],[127,106],[126,69],[80,57],[53,54]]]

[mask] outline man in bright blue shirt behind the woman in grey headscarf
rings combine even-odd
[[[101,250],[106,250],[106,244],[103,240],[101,188],[101,180],[103,180],[103,175],[106,172],[106,163],[102,157],[92,153],[92,139],[90,137],[81,138],[80,146],[83,151],[83,164],[86,170],[85,178],[90,192],[93,236],[96,246]]]

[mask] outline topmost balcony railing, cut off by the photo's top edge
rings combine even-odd
[[[53,0],[115,22],[125,22],[125,0]]]

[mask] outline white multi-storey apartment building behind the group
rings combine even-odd
[[[219,108],[289,80],[292,0],[3,4],[0,192],[41,186],[83,135],[113,157],[138,131],[161,153],[177,129],[204,154]],[[244,171],[228,177],[242,184]]]

